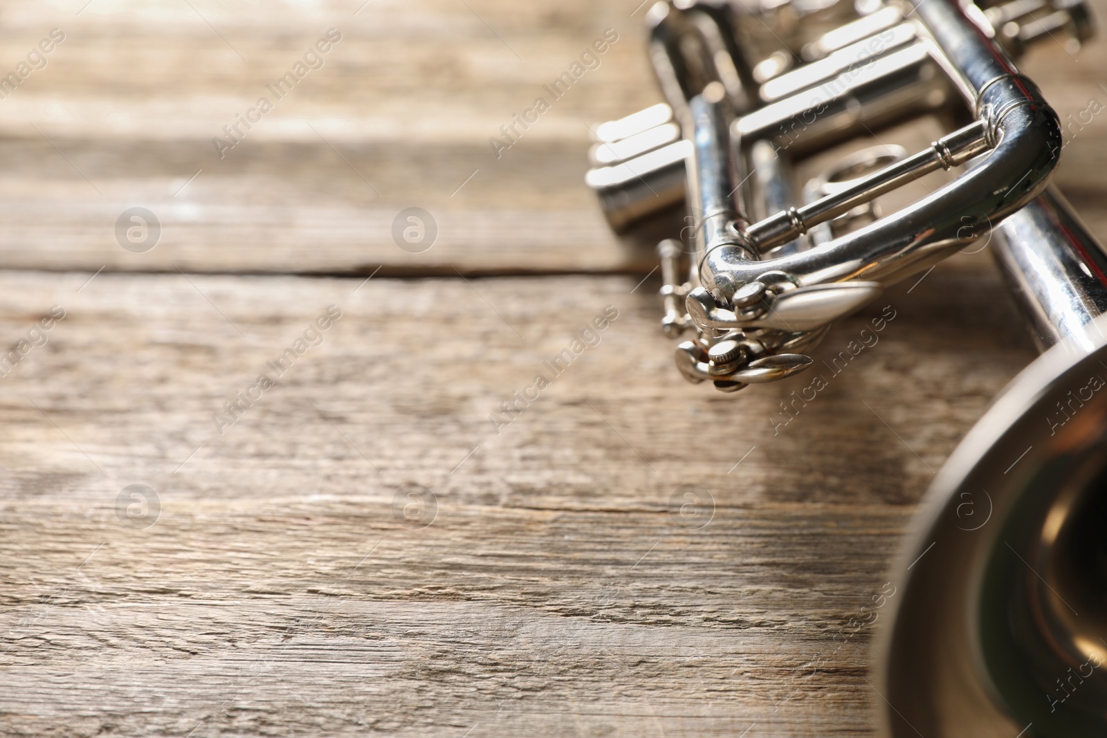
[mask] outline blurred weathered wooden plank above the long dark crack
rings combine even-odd
[[[581,184],[588,126],[660,100],[637,1],[372,0],[354,15],[355,0],[94,0],[77,15],[84,2],[0,10],[9,66],[51,28],[66,34],[48,66],[0,101],[0,263],[324,273],[383,264],[382,274],[653,267],[655,240],[611,235]],[[1107,2],[1092,4],[1107,15]],[[330,28],[343,40],[323,67],[219,158],[211,138]],[[488,138],[607,28],[620,40],[600,67],[493,156]],[[1092,97],[1107,104],[1105,64],[1107,43],[1074,58],[1047,41],[1023,67],[1065,117]],[[1058,181],[1104,231],[1107,122],[1089,118]],[[148,253],[115,240],[116,219],[134,206],[165,229]],[[424,253],[393,241],[408,207],[438,222]]]

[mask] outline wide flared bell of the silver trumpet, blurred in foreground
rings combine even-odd
[[[994,401],[894,571],[877,658],[887,735],[1105,735],[1107,316]]]

